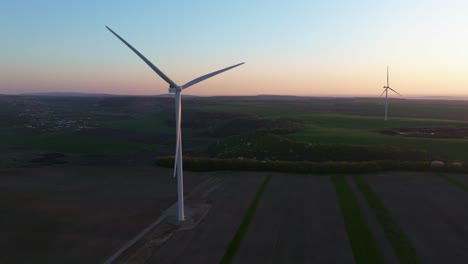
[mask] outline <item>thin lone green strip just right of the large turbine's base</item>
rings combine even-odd
[[[221,264],[231,263],[232,258],[234,257],[237,250],[239,249],[242,239],[247,233],[249,224],[252,221],[255,211],[257,210],[258,203],[260,202],[260,199],[262,198],[262,195],[265,192],[265,189],[268,185],[268,182],[270,182],[270,179],[271,179],[271,175],[268,175],[263,181],[260,188],[258,189],[257,193],[255,194],[255,197],[252,203],[250,204],[249,209],[247,209],[247,213],[244,215],[244,219],[242,219],[241,224],[237,228],[236,234],[232,238],[231,242],[229,243],[226,249],[226,252],[224,253],[223,258],[221,259],[221,262],[220,262]]]

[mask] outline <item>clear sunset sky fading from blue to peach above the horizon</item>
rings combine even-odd
[[[0,94],[468,95],[465,0],[140,0],[0,3]]]

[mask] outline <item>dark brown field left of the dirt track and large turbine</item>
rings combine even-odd
[[[172,171],[55,165],[0,176],[0,263],[102,263],[176,201]],[[190,192],[207,176],[186,173]]]

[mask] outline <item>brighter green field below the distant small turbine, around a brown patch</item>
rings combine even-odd
[[[400,127],[468,126],[466,122],[431,119],[394,119],[383,121],[375,117],[346,115],[310,115],[301,132],[288,138],[321,144],[356,144],[398,146],[404,149],[418,149],[434,153],[444,159],[468,160],[466,139],[434,139],[388,136],[378,130]]]

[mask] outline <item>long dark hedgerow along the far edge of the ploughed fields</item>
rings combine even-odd
[[[174,157],[158,157],[156,165],[172,168]],[[375,173],[390,170],[430,171],[430,162],[363,161],[363,162],[311,162],[311,161],[258,161],[251,159],[216,159],[184,157],[184,169],[191,171],[277,171],[289,173]],[[450,167],[442,168],[449,171]]]

